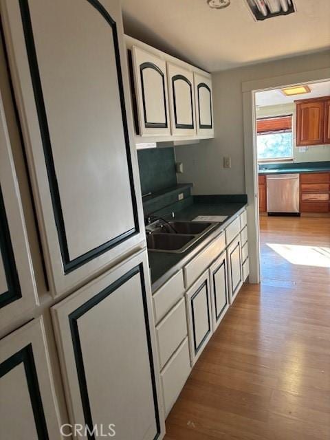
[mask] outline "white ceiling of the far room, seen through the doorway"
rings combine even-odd
[[[314,83],[308,85],[311,89],[309,94],[284,96],[280,89],[259,91],[256,93],[256,105],[265,107],[268,105],[288,104],[297,99],[319,98],[320,96],[330,96],[330,81]]]

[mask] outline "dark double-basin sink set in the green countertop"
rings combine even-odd
[[[207,221],[168,221],[153,229],[146,228],[148,250],[180,254],[219,223]]]

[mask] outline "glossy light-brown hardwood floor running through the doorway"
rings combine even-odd
[[[166,420],[166,440],[330,439],[330,219],[261,217],[244,285]]]

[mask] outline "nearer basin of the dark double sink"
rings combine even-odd
[[[146,245],[148,250],[156,252],[184,252],[196,240],[192,234],[148,234]]]

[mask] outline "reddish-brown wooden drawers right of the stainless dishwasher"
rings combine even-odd
[[[300,212],[329,212],[330,173],[300,174]]]

